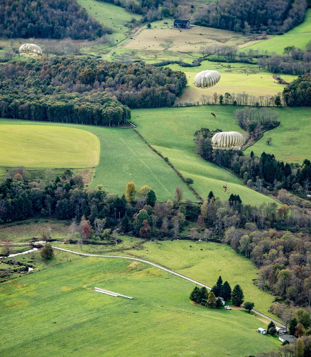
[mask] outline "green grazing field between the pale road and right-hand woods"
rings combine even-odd
[[[127,238],[124,243],[126,244],[126,242]],[[221,275],[223,281],[227,280],[230,283],[231,288],[236,284],[242,287],[245,301],[250,301],[250,298],[252,298],[255,303],[255,310],[278,320],[275,315],[268,313],[270,305],[274,301],[273,296],[253,284],[253,280],[257,279],[258,270],[248,258],[236,253],[228,245],[212,242],[193,243],[190,240],[148,241],[143,243],[141,248],[122,252],[111,251],[109,255],[134,255],[158,263],[201,283],[206,283],[210,287],[216,283],[219,275]],[[75,245],[54,242],[51,244],[81,252],[80,247]],[[192,248],[189,247],[190,245],[192,245]],[[201,248],[203,251],[200,251]],[[99,248],[96,246],[89,248],[86,246],[83,247],[84,249],[89,249],[88,253],[99,254]],[[106,253],[102,252],[102,254]]]

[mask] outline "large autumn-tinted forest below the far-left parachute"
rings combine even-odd
[[[0,116],[116,125],[131,108],[171,106],[187,84],[182,72],[90,57],[19,59],[0,65]]]

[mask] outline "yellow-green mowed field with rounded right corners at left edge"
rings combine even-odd
[[[0,166],[81,168],[99,161],[100,142],[85,130],[8,124],[0,130]]]

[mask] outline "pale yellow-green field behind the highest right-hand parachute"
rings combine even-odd
[[[211,69],[212,66],[206,64],[201,70]],[[199,72],[198,71],[198,72]],[[189,100],[199,101],[202,94],[213,96],[213,93],[217,93],[218,95],[225,95],[226,92],[232,93],[241,93],[246,92],[246,94],[253,96],[265,96],[276,95],[278,92],[282,92],[284,89],[284,85],[277,84],[277,80],[273,78],[273,74],[268,72],[259,72],[259,73],[248,73],[246,70],[245,73],[228,73],[228,70],[221,71],[221,78],[218,84],[214,87],[208,89],[197,88],[194,85],[194,77],[197,74],[196,72],[188,72],[185,71],[188,79],[188,85],[183,90],[182,96],[178,99],[177,102],[189,102]],[[282,77],[282,75],[281,75]],[[294,80],[297,78],[295,75],[287,75],[287,80]],[[200,104],[202,104],[200,102]]]

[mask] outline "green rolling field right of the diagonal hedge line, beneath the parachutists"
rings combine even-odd
[[[223,131],[243,130],[233,119],[234,106],[192,106],[160,109],[133,109],[132,121],[137,130],[162,155],[168,157],[184,177],[193,178],[193,188],[206,199],[209,191],[226,199],[223,185],[228,184],[229,193],[239,194],[243,203],[260,205],[273,202],[272,198],[241,185],[235,175],[211,164],[195,154],[194,133],[202,127]],[[215,111],[217,119],[210,114]]]

